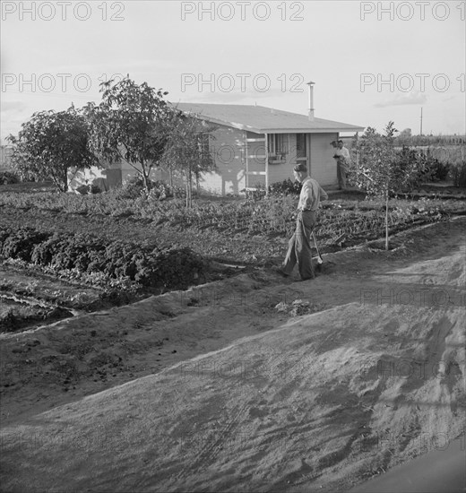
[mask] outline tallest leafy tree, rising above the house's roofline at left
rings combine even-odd
[[[112,163],[125,160],[150,189],[151,170],[159,165],[168,140],[173,109],[147,82],[137,85],[129,76],[120,82],[100,84],[102,102],[89,103],[91,149]]]

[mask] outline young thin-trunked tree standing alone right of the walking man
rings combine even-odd
[[[350,181],[366,191],[368,196],[382,197],[385,203],[385,249],[388,250],[388,200],[390,195],[408,189],[419,176],[419,160],[406,159],[394,147],[393,122],[386,125],[384,134],[367,127],[361,138],[353,141],[358,155],[357,164],[350,169]],[[404,159],[403,159],[404,158]]]

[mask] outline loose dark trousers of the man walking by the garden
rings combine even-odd
[[[288,252],[282,270],[290,275],[298,263],[299,275],[303,281],[314,279],[312,265],[311,234],[315,226],[315,212],[298,212],[296,229],[288,243]]]

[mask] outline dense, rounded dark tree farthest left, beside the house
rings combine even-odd
[[[88,145],[88,125],[82,111],[73,106],[66,111],[34,113],[22,124],[13,143],[12,162],[23,178],[51,179],[58,190],[68,190],[68,170],[99,165]]]

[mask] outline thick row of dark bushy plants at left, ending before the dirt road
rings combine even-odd
[[[186,289],[206,272],[201,255],[189,248],[159,249],[86,234],[52,234],[35,229],[0,229],[0,256],[48,267],[53,272],[99,272],[145,288]]]

